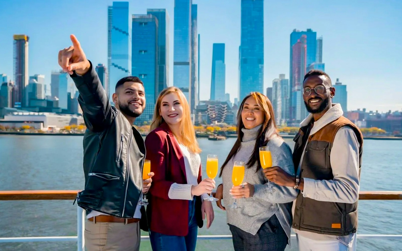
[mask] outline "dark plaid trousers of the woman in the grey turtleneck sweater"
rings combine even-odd
[[[283,251],[287,245],[287,235],[275,214],[261,225],[256,235],[252,235],[229,224],[235,251]]]

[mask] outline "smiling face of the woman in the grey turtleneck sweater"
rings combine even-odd
[[[242,122],[246,129],[252,129],[264,122],[263,108],[258,105],[253,96],[246,99],[242,107]]]

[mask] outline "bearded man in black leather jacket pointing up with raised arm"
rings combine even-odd
[[[122,78],[113,94],[115,107],[111,106],[80,43],[74,35],[70,38],[73,45],[59,51],[58,59],[80,92],[78,102],[87,127],[85,189],[77,196],[78,205],[87,212],[85,245],[89,251],[139,250],[139,219],[145,210],[137,204],[152,182],[142,179],[145,145],[133,127],[145,108],[144,85],[137,77]]]

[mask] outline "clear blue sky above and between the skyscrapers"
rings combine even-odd
[[[0,73],[13,75],[14,34],[29,35],[29,75],[59,69],[57,52],[75,34],[94,63],[107,65],[107,6],[111,0],[1,0]],[[226,44],[226,92],[237,96],[240,0],[193,0],[201,34],[201,99],[209,98],[212,44]],[[131,0],[130,14],[166,8],[170,16],[170,83],[173,77],[174,0]],[[348,110],[402,109],[401,0],[265,0],[264,86],[289,76],[289,36],[311,28],[322,36],[323,62],[348,89]],[[13,78],[13,77],[12,77]]]

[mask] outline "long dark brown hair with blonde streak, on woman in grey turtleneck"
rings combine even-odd
[[[219,177],[222,176],[222,172],[224,170],[225,165],[236,155],[236,153],[240,150],[240,146],[242,143],[242,138],[243,138],[243,132],[242,128],[244,128],[243,120],[242,120],[242,110],[244,103],[246,102],[246,99],[253,97],[255,101],[257,102],[258,106],[262,108],[262,111],[264,112],[264,122],[263,126],[258,130],[257,134],[257,140],[255,141],[254,145],[254,151],[252,155],[250,156],[250,159],[248,159],[248,162],[246,163],[247,168],[252,167],[257,162],[257,169],[256,172],[260,169],[260,153],[259,153],[259,148],[262,146],[267,145],[269,139],[273,135],[278,135],[277,133],[277,127],[275,124],[275,117],[274,117],[274,110],[271,104],[271,101],[265,96],[264,94],[261,94],[259,92],[251,92],[248,94],[242,101],[242,104],[239,106],[239,110],[237,112],[237,126],[236,126],[236,131],[237,131],[237,139],[236,142],[234,143],[232,150],[230,150],[230,153],[228,157],[226,158],[225,162],[223,163],[221,167],[221,172],[219,173]]]

